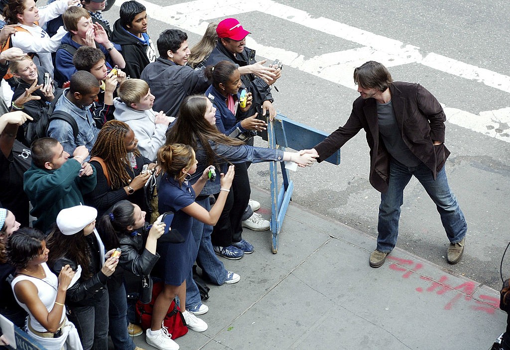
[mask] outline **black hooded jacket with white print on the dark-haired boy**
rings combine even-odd
[[[117,19],[113,24],[112,41],[120,45],[122,57],[126,62],[123,71],[132,79],[139,79],[145,66],[156,60],[156,50],[150,39],[149,45],[154,51],[154,59],[152,60],[147,57],[147,45],[127,32],[120,24],[120,19]]]

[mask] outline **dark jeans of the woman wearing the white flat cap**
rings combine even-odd
[[[93,306],[71,307],[69,320],[76,326],[83,350],[108,349],[108,290],[99,291]],[[97,296],[97,294],[96,294]]]

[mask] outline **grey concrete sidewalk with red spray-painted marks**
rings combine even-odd
[[[252,189],[251,197],[269,218],[270,195]],[[450,274],[446,258],[438,266],[396,248],[371,268],[373,237],[298,205],[289,206],[277,254],[270,233],[243,237],[255,252],[222,258],[241,281],[210,286],[209,312],[199,316],[209,329],[177,338],[181,349],[486,350],[506,327],[498,291]],[[134,339],[152,348],[144,335]]]

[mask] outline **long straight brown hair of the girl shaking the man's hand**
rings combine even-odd
[[[166,136],[166,145],[182,143],[193,147],[197,152],[198,143],[206,152],[207,164],[227,163],[227,159],[219,156],[211,147],[210,142],[228,146],[242,146],[240,140],[234,140],[222,134],[214,125],[209,124],[204,118],[207,110],[207,97],[204,95],[192,95],[184,99],[179,109],[179,118],[174,122]]]

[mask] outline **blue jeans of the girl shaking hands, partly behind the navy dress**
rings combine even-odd
[[[208,211],[211,210],[209,197],[198,199],[196,202]],[[202,269],[204,277],[216,285],[222,285],[225,282],[228,271],[226,271],[225,266],[214,253],[211,243],[213,227],[193,219],[191,232],[198,246],[196,262]],[[200,303],[200,292],[193,281],[193,271],[190,271],[190,275],[186,278],[186,308],[194,307],[198,303]]]

